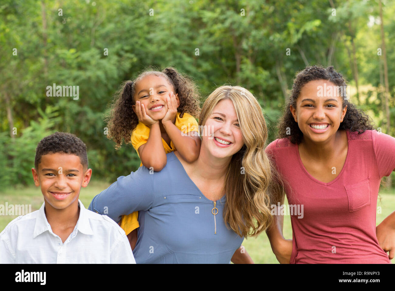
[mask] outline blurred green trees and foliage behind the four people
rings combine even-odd
[[[103,116],[121,82],[150,65],[194,78],[202,101],[223,84],[246,87],[265,112],[269,141],[295,73],[334,65],[351,101],[395,136],[395,3],[382,2],[381,22],[378,0],[2,0],[0,184],[30,184],[36,145],[55,131],[87,144],[93,179],[135,171],[135,150],[114,149]],[[47,97],[53,83],[79,86],[79,99]]]

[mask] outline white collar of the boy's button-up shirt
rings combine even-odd
[[[85,209],[81,200],[78,200],[78,206],[80,207],[79,217],[77,221],[77,230],[82,232],[83,234],[93,234],[92,228],[90,227],[89,218],[87,216],[88,209]],[[41,205],[38,210],[38,215],[36,218],[36,224],[34,224],[33,238],[42,234],[45,231],[51,230],[51,226],[47,221],[47,217],[45,216],[45,202]]]

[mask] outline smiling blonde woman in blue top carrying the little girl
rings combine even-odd
[[[218,87],[199,118],[199,158],[167,154],[159,172],[141,166],[98,194],[89,209],[114,221],[139,212],[137,263],[252,262],[243,239],[272,222],[267,128],[255,97]]]

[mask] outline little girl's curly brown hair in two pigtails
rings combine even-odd
[[[126,144],[130,143],[132,131],[139,123],[137,115],[132,109],[132,106],[135,105],[135,86],[139,80],[148,75],[162,76],[174,87],[174,94],[178,93],[180,100],[180,106],[177,108],[177,111],[181,113],[180,117],[184,115],[184,112],[192,116],[199,116],[200,94],[195,83],[188,76],[182,75],[172,67],[165,68],[162,71],[148,68],[134,80],[128,80],[121,84],[119,90],[115,93],[110,114],[105,117],[108,127],[107,137],[116,143],[116,149],[122,145],[122,139]]]

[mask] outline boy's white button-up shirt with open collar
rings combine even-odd
[[[115,221],[85,209],[64,243],[53,233],[44,206],[11,221],[0,233],[0,263],[135,264],[128,238]]]

